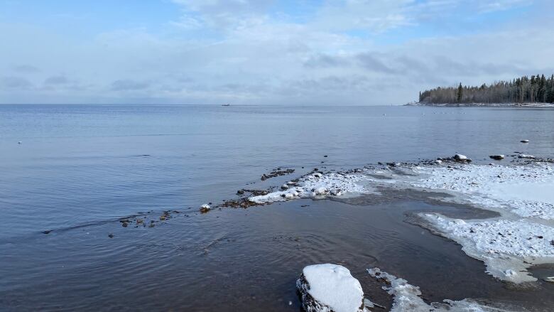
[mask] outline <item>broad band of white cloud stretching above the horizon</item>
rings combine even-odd
[[[129,28],[83,40],[0,24],[10,43],[0,68],[14,74],[1,77],[1,100],[403,104],[435,85],[554,71],[548,21],[396,44],[349,33],[386,36],[452,14],[460,1],[327,1],[302,22],[268,14],[273,1],[174,2],[183,17],[167,33]],[[479,3],[466,9],[477,14]],[[217,36],[202,36],[206,28]]]

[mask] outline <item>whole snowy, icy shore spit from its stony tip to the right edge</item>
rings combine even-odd
[[[469,257],[487,265],[487,273],[514,283],[536,281],[526,270],[533,264],[554,263],[554,195],[549,191],[554,189],[552,163],[393,163],[348,173],[315,172],[283,188],[249,200],[266,204],[298,198],[379,195],[383,188],[440,191],[452,195],[442,201],[500,214],[487,220],[419,214],[421,226],[461,244]]]

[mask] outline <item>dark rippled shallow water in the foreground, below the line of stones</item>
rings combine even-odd
[[[2,246],[9,255],[3,270],[17,274],[1,280],[1,304],[20,311],[298,311],[301,269],[331,262],[349,267],[379,303],[389,298],[368,267],[403,276],[429,301],[491,298],[548,311],[541,308],[554,303],[552,284],[507,289],[459,245],[403,222],[406,212],[435,209],[417,201],[298,200],[178,215],[153,228],[111,222],[35,235]]]

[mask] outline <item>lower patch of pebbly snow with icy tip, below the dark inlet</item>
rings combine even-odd
[[[514,283],[536,281],[526,269],[554,262],[554,227],[526,220],[459,220],[420,214],[435,230],[487,265],[487,273]]]

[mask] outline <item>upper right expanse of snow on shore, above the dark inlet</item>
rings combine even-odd
[[[554,220],[554,170],[548,163],[527,166],[465,164],[457,168],[417,167],[419,188],[449,190],[480,208],[521,217]]]

